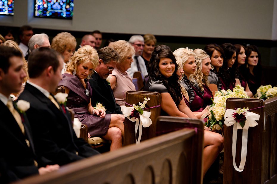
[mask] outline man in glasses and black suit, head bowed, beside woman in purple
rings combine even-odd
[[[89,80],[93,91],[91,104],[94,106],[97,103],[103,103],[103,106],[107,109],[106,114],[122,114],[120,106],[114,99],[111,86],[106,80],[109,74],[115,69],[119,55],[110,47],[101,48],[97,53],[99,56],[99,65],[95,68],[95,72]],[[124,121],[124,117],[122,119]]]

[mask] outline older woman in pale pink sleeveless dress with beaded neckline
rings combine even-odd
[[[119,54],[119,62],[116,65],[116,69],[110,74],[111,88],[116,103],[120,106],[125,106],[126,92],[136,90],[133,80],[127,72],[133,62],[132,56],[135,54],[135,48],[125,40],[113,42],[111,47]]]

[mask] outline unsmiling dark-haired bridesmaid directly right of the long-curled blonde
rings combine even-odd
[[[211,58],[211,71],[208,76],[208,81],[210,81],[209,88],[214,96],[215,92],[217,92],[218,90],[227,89],[226,85],[223,82],[224,74],[221,69],[223,65],[224,51],[217,44],[206,45],[204,51]]]

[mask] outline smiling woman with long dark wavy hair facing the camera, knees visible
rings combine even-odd
[[[180,76],[178,76],[177,70],[178,65],[170,48],[166,45],[156,46],[147,66],[149,79],[144,87],[144,91],[161,93],[161,109],[163,114],[196,119],[184,102],[181,87],[178,83]],[[204,174],[223,149],[223,144],[224,138],[220,134],[204,131]]]

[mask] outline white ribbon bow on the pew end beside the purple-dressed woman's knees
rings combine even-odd
[[[130,118],[130,114],[134,109],[133,107],[126,107],[126,106],[120,106],[120,107],[124,117],[127,117],[132,122],[136,122],[136,125],[135,125],[136,144],[140,144],[141,135],[142,135],[142,126],[144,128],[147,128],[150,125],[152,125],[152,120],[150,119],[151,112],[143,111],[143,114],[139,114],[139,119],[135,119],[135,117]],[[139,128],[139,133],[138,133],[138,140],[137,140],[138,128]]]

